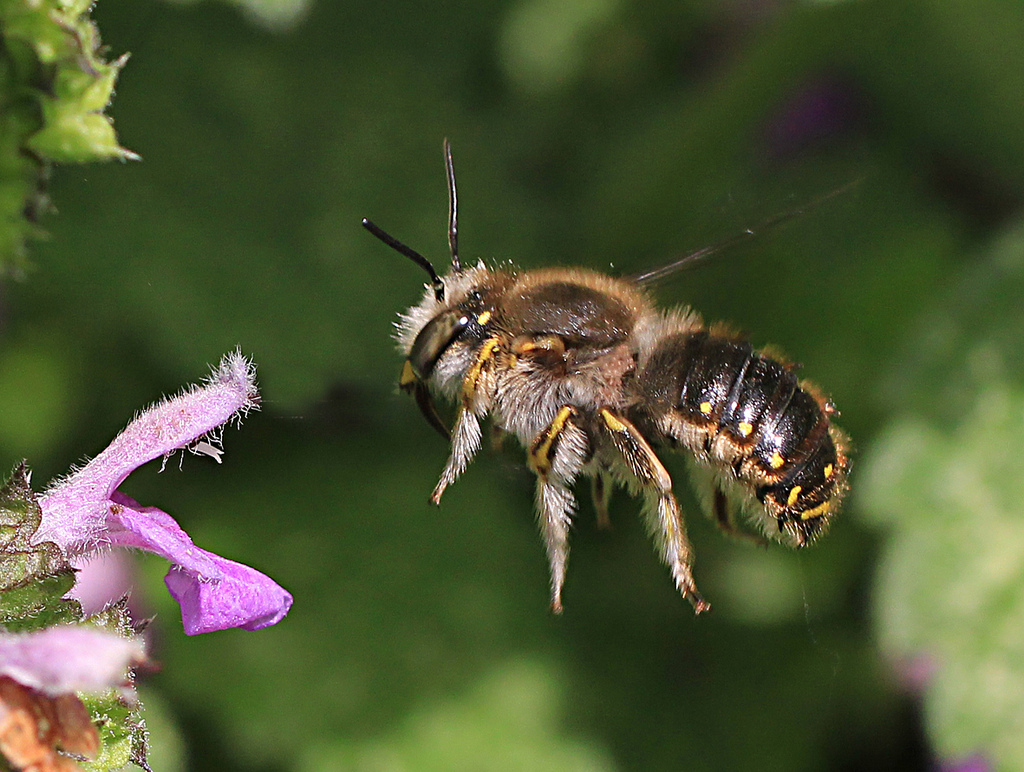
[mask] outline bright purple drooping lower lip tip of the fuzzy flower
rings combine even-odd
[[[292,596],[255,568],[207,553],[219,567],[219,581],[204,581],[179,566],[164,577],[171,596],[181,606],[187,635],[243,628],[260,630],[276,625],[292,607]]]

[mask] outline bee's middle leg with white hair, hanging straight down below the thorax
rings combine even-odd
[[[569,525],[575,510],[572,480],[586,463],[590,440],[564,405],[529,447],[527,461],[537,474],[537,510],[551,569],[551,610],[562,611],[562,585],[569,553]]]

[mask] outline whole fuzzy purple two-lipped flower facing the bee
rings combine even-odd
[[[170,515],[118,490],[135,469],[178,449],[220,462],[220,430],[257,409],[256,373],[241,352],[226,354],[210,378],[135,418],[105,451],[55,480],[42,496],[34,542],[54,542],[69,558],[128,547],[173,565],[165,578],[181,605],[185,633],[259,630],[280,621],[292,596],[249,566],[202,550]]]

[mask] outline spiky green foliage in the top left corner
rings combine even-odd
[[[126,59],[101,55],[90,5],[0,1],[0,273],[26,267],[51,164],[135,158],[103,115]]]

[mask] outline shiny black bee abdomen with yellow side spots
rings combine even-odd
[[[637,380],[645,425],[731,469],[772,517],[817,518],[842,494],[846,458],[824,400],[746,341],[707,330],[667,336]]]

